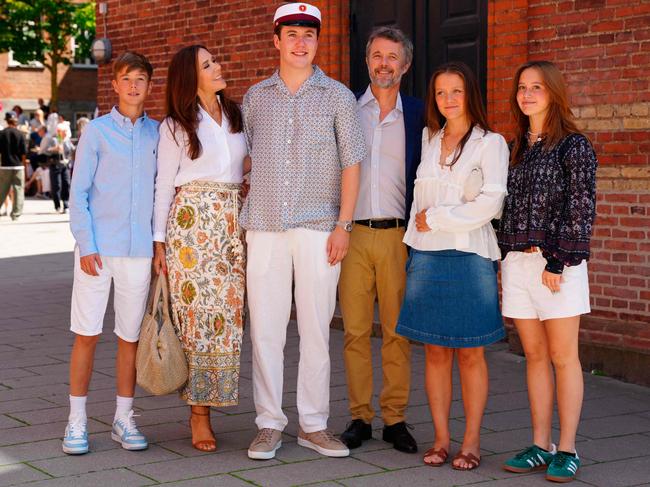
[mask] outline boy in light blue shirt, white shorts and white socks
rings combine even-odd
[[[117,408],[111,437],[127,450],[148,444],[133,420],[135,356],[151,278],[158,122],[144,113],[153,68],[126,52],[113,64],[119,104],[88,124],[77,147],[70,193],[76,240],[71,326],[70,416],[63,451],[88,452],[86,396],[111,282],[118,336]]]

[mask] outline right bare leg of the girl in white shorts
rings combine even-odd
[[[578,356],[580,316],[546,320],[546,336],[557,382],[561,451],[575,452],[584,383]]]

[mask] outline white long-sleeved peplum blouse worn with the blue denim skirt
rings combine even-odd
[[[501,213],[507,192],[508,145],[501,135],[475,127],[458,161],[443,168],[442,135],[443,130],[429,140],[428,129],[422,132],[422,160],[404,243],[416,250],[455,249],[497,260],[501,253],[491,220]],[[482,173],[483,181],[478,196],[466,201],[464,188],[472,172]],[[423,209],[428,232],[415,228],[415,215]]]

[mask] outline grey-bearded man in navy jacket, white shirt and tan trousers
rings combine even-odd
[[[407,251],[402,238],[413,200],[423,128],[422,101],[399,92],[412,58],[413,44],[399,29],[379,27],[370,34],[366,63],[371,83],[357,103],[368,155],[361,163],[355,225],[339,281],[352,414],[341,440],[349,448],[372,436],[370,336],[377,299],[383,336],[379,400],[383,439],[399,451],[417,451],[404,422],[411,375],[409,343],[395,333],[406,280]]]

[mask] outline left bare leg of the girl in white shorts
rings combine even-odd
[[[546,328],[537,319],[514,320],[526,354],[528,401],[533,425],[533,443],[551,448],[553,418],[553,369],[548,352]]]

